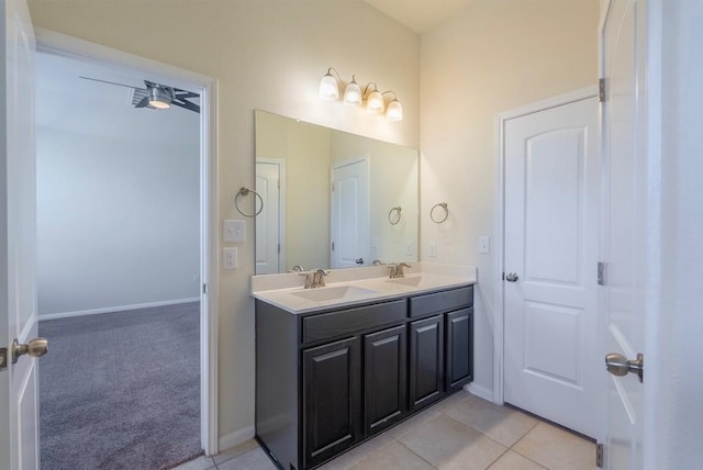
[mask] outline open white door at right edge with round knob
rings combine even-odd
[[[637,0],[610,2],[603,22],[602,60],[606,83],[603,115],[603,232],[606,266],[601,288],[605,352],[636,359],[644,352],[646,311],[645,237],[647,234],[647,152],[643,113],[646,87],[645,4]],[[602,366],[601,366],[602,367]],[[605,373],[602,371],[601,373]],[[632,373],[607,380],[606,468],[644,468],[643,384]]]

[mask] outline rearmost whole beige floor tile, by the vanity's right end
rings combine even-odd
[[[445,413],[506,447],[517,443],[539,423],[525,413],[495,405],[478,396],[464,400]]]

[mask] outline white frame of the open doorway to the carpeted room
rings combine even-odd
[[[217,454],[217,220],[216,81],[168,64],[35,27],[37,52],[140,74],[200,93],[200,440],[205,455]]]

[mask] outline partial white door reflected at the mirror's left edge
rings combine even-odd
[[[256,160],[256,192],[261,197],[261,213],[256,217],[256,273],[281,272],[286,267],[284,208],[281,190],[284,184],[286,160]]]

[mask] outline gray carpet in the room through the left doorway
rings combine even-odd
[[[40,322],[43,470],[163,469],[201,454],[199,303]]]

